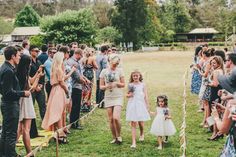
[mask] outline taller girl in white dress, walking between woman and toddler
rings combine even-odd
[[[131,148],[136,148],[137,124],[140,129],[139,141],[144,141],[144,121],[150,120],[147,89],[142,80],[142,75],[138,70],[131,73],[130,83],[128,85],[128,105],[126,110],[126,121],[131,122],[132,126]]]

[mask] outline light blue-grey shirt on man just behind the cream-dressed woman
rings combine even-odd
[[[107,56],[103,53],[99,53],[96,57],[98,69],[96,70],[96,79],[99,80],[100,73],[103,69],[107,68]]]

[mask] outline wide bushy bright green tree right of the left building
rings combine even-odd
[[[91,9],[79,11],[67,10],[55,16],[46,16],[40,24],[48,41],[68,44],[94,44],[97,31],[97,20]]]

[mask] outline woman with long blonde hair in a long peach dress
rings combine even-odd
[[[55,131],[63,127],[63,115],[67,103],[68,88],[64,82],[64,54],[58,52],[53,57],[51,67],[52,90],[48,99],[47,110],[42,122],[42,128]],[[59,142],[67,143],[66,134],[61,132]]]

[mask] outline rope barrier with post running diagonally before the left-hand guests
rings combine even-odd
[[[36,147],[33,151],[31,151],[31,152],[30,152],[29,154],[27,154],[25,157],[30,157],[30,156],[32,156],[32,155],[36,156],[37,152],[40,151],[40,150],[42,150],[43,145],[44,145],[45,143],[48,143],[49,140],[52,139],[53,137],[56,139],[56,157],[58,157],[58,151],[59,151],[58,138],[59,138],[59,134],[62,133],[62,132],[64,132],[64,129],[66,129],[66,128],[67,128],[67,129],[70,129],[73,124],[76,124],[76,123],[79,122],[80,120],[84,120],[84,119],[88,118],[89,115],[91,115],[91,114],[95,111],[95,109],[96,109],[99,105],[101,105],[101,104],[103,103],[103,101],[104,101],[104,99],[103,99],[99,104],[96,104],[96,105],[94,106],[94,108],[93,108],[89,113],[87,113],[87,114],[84,115],[83,117],[79,118],[79,119],[76,120],[75,122],[70,123],[70,124],[68,124],[67,126],[63,127],[63,128],[57,129],[57,130],[54,132],[54,134],[52,134],[51,136],[49,136],[49,137],[47,138],[47,140],[46,140],[45,142],[41,143],[38,147]]]

